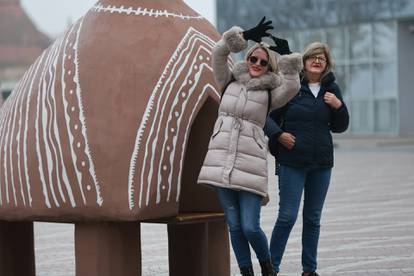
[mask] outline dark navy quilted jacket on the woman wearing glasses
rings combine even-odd
[[[324,94],[331,92],[342,101],[335,110],[324,102]],[[333,143],[331,132],[344,132],[348,128],[349,114],[333,73],[321,81],[318,96],[312,94],[306,78],[302,78],[299,93],[285,106],[273,110],[266,120],[265,133],[269,137],[269,149],[278,164],[294,167],[333,167]],[[288,150],[278,142],[282,132],[296,137]]]

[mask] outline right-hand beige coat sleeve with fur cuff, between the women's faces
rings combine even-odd
[[[272,109],[284,106],[300,89],[299,72],[303,68],[302,55],[293,53],[283,55],[278,60],[281,84],[272,93]]]

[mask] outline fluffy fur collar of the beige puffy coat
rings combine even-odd
[[[240,61],[234,65],[234,78],[246,85],[247,90],[272,90],[282,83],[281,77],[273,72],[266,72],[260,77],[253,78],[249,74],[246,61]]]

